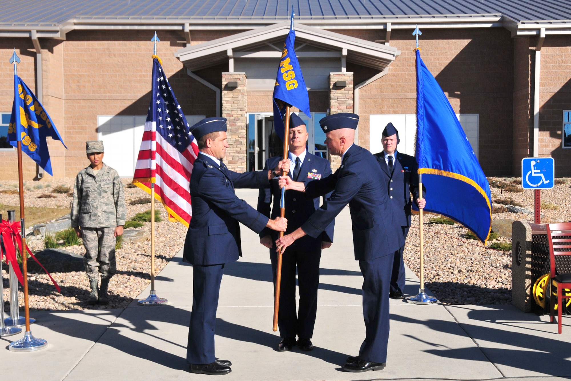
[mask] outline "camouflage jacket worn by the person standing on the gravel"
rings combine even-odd
[[[117,171],[107,164],[97,176],[88,166],[75,178],[71,227],[106,228],[125,224],[125,195]]]

